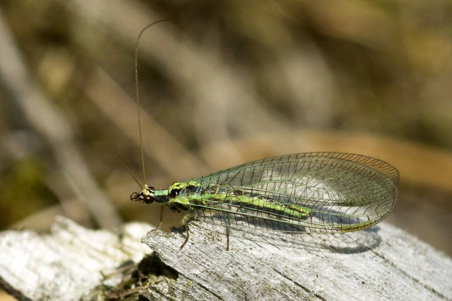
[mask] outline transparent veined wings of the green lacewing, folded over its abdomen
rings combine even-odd
[[[214,223],[348,232],[389,215],[397,201],[399,173],[370,157],[304,153],[246,163],[194,181],[200,188],[190,192],[197,195],[190,202],[192,212]],[[189,199],[190,193],[185,194]]]

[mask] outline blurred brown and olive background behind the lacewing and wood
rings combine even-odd
[[[451,2],[2,0],[0,19],[0,229],[158,222],[117,156],[143,182],[134,50],[166,19],[140,42],[148,184],[368,155],[401,173],[388,221],[452,254]]]

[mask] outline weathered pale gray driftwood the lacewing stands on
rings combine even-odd
[[[0,283],[22,300],[450,300],[452,260],[387,223],[346,234],[231,230],[205,222],[0,234]],[[182,230],[182,231],[180,231]],[[154,253],[151,254],[151,251]],[[146,255],[149,253],[150,255]]]

